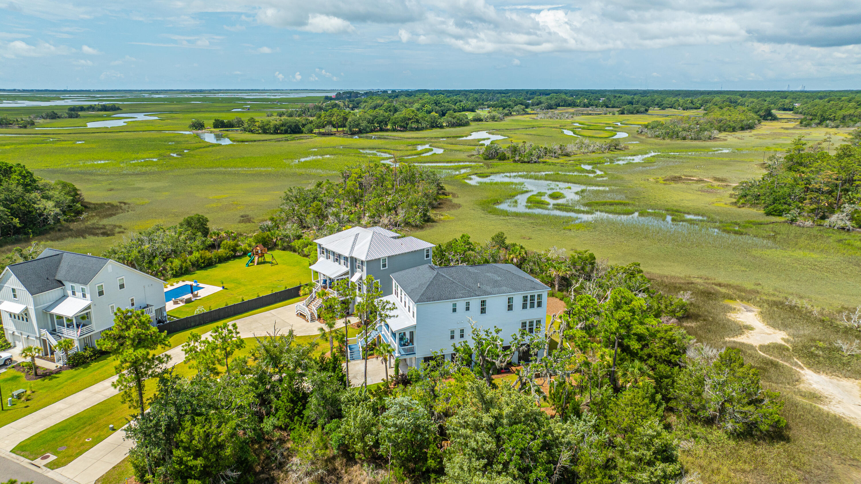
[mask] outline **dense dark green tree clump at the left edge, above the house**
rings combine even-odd
[[[37,177],[23,164],[0,161],[0,239],[45,232],[84,213],[84,195],[69,182]]]

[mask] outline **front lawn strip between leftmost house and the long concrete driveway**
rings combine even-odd
[[[3,412],[0,412],[0,426],[7,425],[17,419],[26,417],[40,408],[63,400],[65,397],[75,394],[84,388],[101,382],[111,376],[114,372],[114,359],[109,356],[101,357],[95,362],[87,363],[75,369],[68,369],[59,375],[51,375],[41,378],[35,382],[28,382],[24,374],[9,369],[0,374],[0,398],[3,399]],[[15,405],[11,408],[6,406],[9,394],[19,388],[32,390],[28,401],[12,400]]]

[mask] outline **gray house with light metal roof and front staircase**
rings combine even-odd
[[[364,291],[365,276],[374,276],[380,282],[383,294],[392,292],[391,275],[400,270],[429,264],[434,245],[415,237],[401,237],[379,226],[354,226],[327,237],[316,239],[317,262],[311,266],[313,292],[296,304],[296,314],[307,320],[317,320],[317,309],[322,303],[320,295],[331,290],[332,283],[350,279]]]

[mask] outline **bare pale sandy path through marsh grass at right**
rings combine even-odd
[[[736,305],[738,311],[730,316],[746,326],[753,326],[753,330],[748,330],[737,338],[730,338],[732,341],[741,343],[753,344],[753,347],[759,351],[760,344],[780,343],[790,346],[786,340],[791,340],[789,335],[780,330],[774,329],[765,325],[759,318],[759,309],[739,303]],[[785,338],[785,340],[784,340]],[[791,346],[790,346],[791,348]],[[861,387],[858,380],[848,378],[840,378],[839,376],[821,375],[811,371],[801,362],[795,360],[801,369],[797,369],[790,363],[778,360],[775,357],[766,355],[762,351],[759,354],[764,357],[769,357],[774,361],[784,363],[791,369],[795,369],[804,377],[805,386],[813,389],[816,393],[821,394],[827,402],[820,405],[822,408],[837,413],[851,421],[853,424],[861,426]]]

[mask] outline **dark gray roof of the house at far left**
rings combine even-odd
[[[30,295],[37,295],[62,288],[62,281],[89,284],[105,264],[107,258],[46,249],[38,258],[9,265],[9,270]]]

